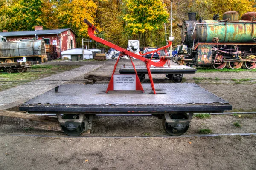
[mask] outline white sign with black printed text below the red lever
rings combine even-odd
[[[136,75],[114,74],[114,90],[136,90]]]

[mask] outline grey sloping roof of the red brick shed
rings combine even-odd
[[[14,32],[0,32],[1,36],[4,37],[14,37],[14,36],[26,36],[26,35],[46,35],[46,34],[60,34],[64,31],[69,30],[70,28],[65,29],[49,29],[49,30],[37,30],[37,31],[14,31]],[[73,31],[72,29],[70,29]],[[73,31],[74,32],[74,31]],[[74,33],[76,35],[76,33]],[[76,35],[77,36],[77,35]]]

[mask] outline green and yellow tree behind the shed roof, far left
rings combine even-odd
[[[56,27],[52,24],[54,13],[49,0],[7,0],[1,6],[0,14],[1,28],[9,31],[32,30],[36,25]]]

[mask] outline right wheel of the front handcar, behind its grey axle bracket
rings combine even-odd
[[[171,114],[171,119],[188,119],[187,114]],[[180,136],[189,129],[189,124],[182,125],[182,123],[176,123],[174,125],[168,125],[166,122],[165,116],[163,116],[163,129],[166,130],[172,136]]]

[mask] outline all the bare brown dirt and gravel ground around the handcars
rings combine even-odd
[[[78,62],[79,65],[81,63]],[[84,62],[84,65],[92,65],[96,68],[99,63],[104,63],[104,66],[93,73],[111,75],[113,61]],[[128,65],[128,61],[121,60],[119,66],[123,64]],[[135,64],[138,65],[141,62],[135,61]],[[164,79],[163,74],[154,74],[153,77],[168,81]],[[184,77],[186,79],[193,77],[256,78],[256,72],[196,73],[185,74]],[[60,76],[58,78],[66,79]],[[72,80],[81,81],[68,83],[83,84],[85,83],[84,74],[75,74]],[[253,82],[224,84],[222,81],[203,80],[202,83],[205,83],[199,84],[202,88],[229,101],[233,105],[233,111],[256,111],[254,105],[256,85]],[[239,123],[241,127],[235,127],[234,122]],[[211,116],[209,119],[193,118],[185,134],[198,134],[200,129],[205,128],[212,130],[212,133],[256,133],[255,123],[256,117],[248,115],[242,115],[241,118],[229,115]],[[0,134],[64,135],[61,132],[23,129],[11,125],[0,125]],[[161,120],[153,116],[98,116],[93,119],[91,134],[94,136],[166,135]],[[0,148],[0,170],[256,169],[256,136],[128,139],[1,136]]]

